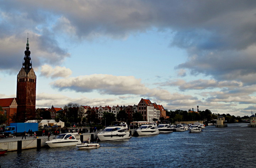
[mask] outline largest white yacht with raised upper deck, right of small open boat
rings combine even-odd
[[[126,131],[123,126],[110,126],[103,129],[97,134],[101,141],[118,140],[130,138],[130,132]]]

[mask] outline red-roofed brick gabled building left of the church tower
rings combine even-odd
[[[0,111],[0,113],[7,118],[7,121],[4,125],[9,125],[10,123],[13,123],[11,120],[11,116],[16,115],[17,113],[16,98],[0,99],[0,107],[2,108],[2,111]]]

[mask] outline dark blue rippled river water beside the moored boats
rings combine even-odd
[[[7,152],[5,167],[255,167],[256,128],[247,123],[208,126],[200,133],[173,132],[101,141],[100,148],[75,146]]]

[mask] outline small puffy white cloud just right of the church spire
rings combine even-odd
[[[41,67],[41,75],[50,77],[50,78],[58,78],[58,77],[69,77],[72,74],[71,69],[66,67],[56,66],[52,68],[50,65],[43,65]]]

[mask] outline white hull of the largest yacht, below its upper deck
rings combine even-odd
[[[127,139],[130,138],[129,132],[122,132],[122,133],[98,133],[98,139],[101,141],[111,141],[111,140],[119,140],[119,139]]]

